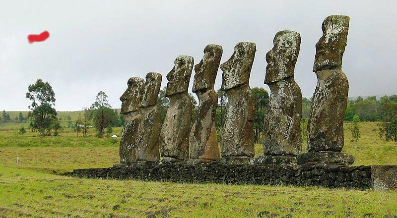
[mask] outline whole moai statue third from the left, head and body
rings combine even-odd
[[[189,80],[194,59],[179,55],[175,66],[167,74],[165,96],[170,106],[160,133],[160,163],[173,163],[189,159],[189,133],[193,104],[188,95]]]

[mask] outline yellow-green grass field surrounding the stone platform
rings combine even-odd
[[[354,164],[397,164],[397,143],[360,123],[361,139],[350,142],[345,124],[343,152]],[[79,179],[57,175],[73,168],[118,163],[119,140],[57,137],[0,128],[0,217],[384,217],[397,215],[397,191],[358,191],[321,187]],[[121,128],[114,128],[120,135]],[[120,138],[119,138],[120,139]],[[305,147],[305,145],[304,145]],[[256,145],[256,155],[262,153]],[[16,165],[16,158],[19,163]]]

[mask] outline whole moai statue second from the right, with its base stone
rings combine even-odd
[[[294,80],[301,36],[289,30],[278,32],[266,54],[265,84],[270,100],[265,107],[264,155],[254,163],[294,164],[301,153],[300,122],[302,93]]]

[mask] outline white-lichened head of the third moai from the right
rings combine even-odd
[[[256,51],[256,44],[251,42],[239,42],[234,47],[233,55],[220,65],[223,71],[221,90],[248,84]]]

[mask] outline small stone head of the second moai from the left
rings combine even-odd
[[[160,73],[147,73],[146,82],[142,89],[142,101],[139,108],[155,106],[157,104],[157,97],[161,86]]]

